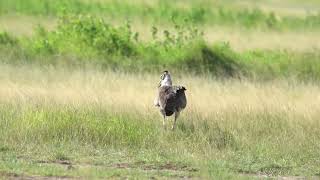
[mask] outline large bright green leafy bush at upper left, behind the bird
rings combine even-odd
[[[57,29],[52,32],[38,27],[30,43],[35,53],[74,53],[84,57],[132,56],[136,53],[130,29],[115,28],[89,16],[61,18]]]

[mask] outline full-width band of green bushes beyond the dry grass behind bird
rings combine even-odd
[[[226,42],[208,45],[193,26],[175,25],[158,32],[153,39],[139,40],[130,23],[114,27],[100,18],[63,16],[58,27],[38,27],[32,37],[16,39],[0,34],[0,53],[5,63],[33,62],[44,65],[92,64],[132,71],[160,71],[163,68],[210,73],[218,77],[275,79],[320,79],[320,53],[290,50],[235,52]]]

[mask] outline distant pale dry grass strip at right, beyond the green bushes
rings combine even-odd
[[[320,49],[318,32],[263,32],[228,28],[205,28],[205,39],[210,43],[229,42],[237,51],[250,49],[290,49],[310,51]]]

